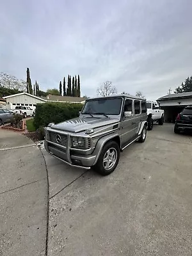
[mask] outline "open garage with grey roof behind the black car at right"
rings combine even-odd
[[[175,122],[176,116],[188,105],[192,105],[192,92],[168,94],[157,99],[161,109],[164,109],[164,121]]]

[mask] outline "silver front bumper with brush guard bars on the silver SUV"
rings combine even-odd
[[[47,132],[45,134],[47,134]],[[94,155],[94,153],[90,155],[77,154],[74,148],[70,148],[70,136],[68,136],[66,147],[63,147],[50,141],[45,135],[45,149],[49,154],[60,159],[64,163],[80,168],[89,169],[93,166],[96,159],[96,155]]]

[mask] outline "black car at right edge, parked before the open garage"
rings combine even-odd
[[[184,108],[180,114],[177,115],[174,132],[180,133],[180,131],[192,132],[192,105]]]

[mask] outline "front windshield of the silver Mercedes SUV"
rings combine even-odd
[[[122,98],[88,100],[82,114],[119,115],[122,106]]]

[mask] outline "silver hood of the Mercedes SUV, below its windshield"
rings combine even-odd
[[[78,117],[67,120],[60,124],[52,125],[51,129],[68,132],[81,132],[85,131],[86,129],[94,129],[105,125],[115,124],[117,122],[119,122],[117,119],[107,117]]]

